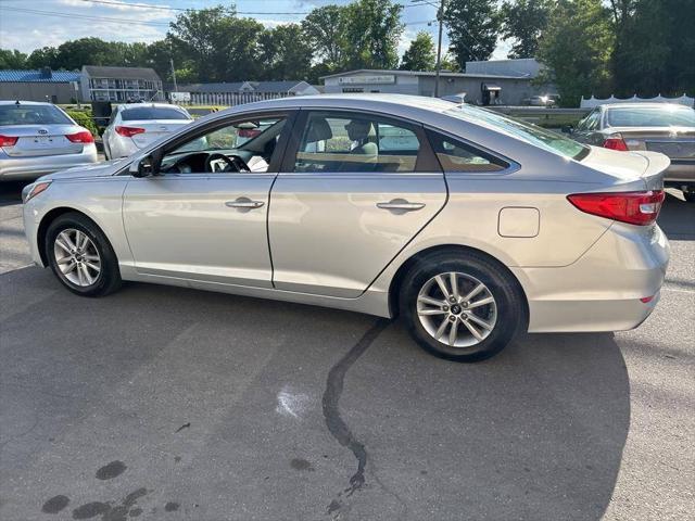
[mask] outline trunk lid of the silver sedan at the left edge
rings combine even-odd
[[[2,150],[11,157],[79,154],[84,143],[73,143],[65,136],[84,130],[77,125],[3,125],[0,135],[17,141]]]

